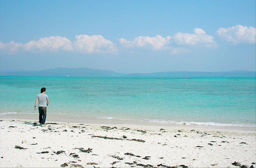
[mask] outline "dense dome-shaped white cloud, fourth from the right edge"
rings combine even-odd
[[[101,35],[76,35],[74,49],[80,53],[117,53],[116,45]]]

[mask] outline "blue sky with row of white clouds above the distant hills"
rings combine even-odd
[[[255,0],[1,0],[0,70],[255,70],[255,27]]]

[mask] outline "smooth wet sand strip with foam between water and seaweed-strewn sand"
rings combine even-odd
[[[5,114],[0,115],[0,119],[25,119],[34,120],[38,122],[38,114]],[[256,133],[256,126],[213,126],[213,125],[189,125],[176,123],[159,123],[150,121],[134,121],[134,120],[120,120],[120,119],[99,119],[99,118],[82,118],[82,117],[68,117],[68,116],[47,116],[47,122],[61,122],[61,123],[89,123],[89,124],[108,124],[108,125],[138,125],[138,126],[158,126],[158,127],[173,127],[180,129],[205,129],[205,130],[224,130],[229,132],[246,132]]]

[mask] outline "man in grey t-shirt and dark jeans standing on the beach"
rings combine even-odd
[[[46,120],[46,101],[47,106],[49,105],[48,96],[45,94],[46,88],[41,89],[41,93],[37,95],[37,99],[35,99],[35,110],[37,109],[38,102],[38,111],[39,111],[39,123],[42,127],[45,126]]]

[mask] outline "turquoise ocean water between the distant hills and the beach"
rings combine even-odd
[[[56,117],[256,126],[255,77],[1,76],[0,117],[38,114],[42,87]]]

